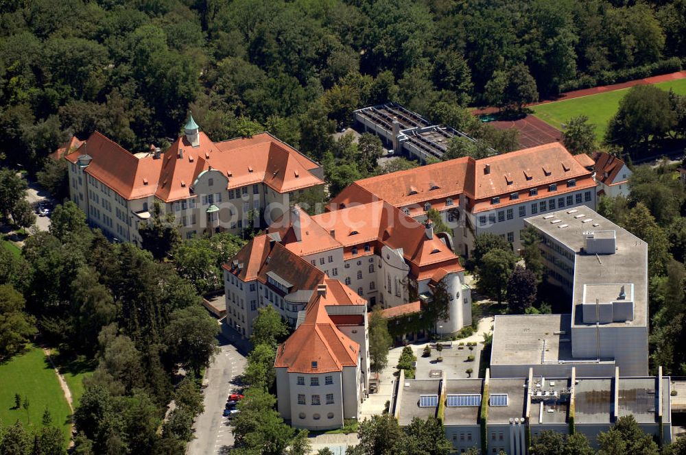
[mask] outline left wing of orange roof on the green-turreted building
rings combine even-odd
[[[155,194],[162,160],[155,160],[152,156],[137,158],[97,131],[65,158],[75,163],[84,153],[93,158],[86,167],[86,173],[105,182],[124,199],[139,199]]]

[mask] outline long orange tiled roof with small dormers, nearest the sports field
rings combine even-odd
[[[576,180],[570,190],[595,186],[591,171],[580,164],[560,143],[530,147],[481,160],[457,158],[429,164],[368,179],[358,180],[340,195],[329,207],[333,210],[341,204],[353,202],[365,204],[382,199],[399,208],[410,208],[413,216],[424,212],[423,205],[431,202],[431,208],[445,210],[451,207],[446,199],[453,199],[458,206],[460,195],[469,197],[471,212],[490,210],[490,199],[501,197],[499,207],[519,204],[528,199],[530,188],[547,188],[549,184]],[[560,188],[559,193],[567,192]],[[519,193],[520,199],[509,200],[509,195]],[[531,197],[539,199],[545,195]]]

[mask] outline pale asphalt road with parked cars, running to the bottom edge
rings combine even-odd
[[[233,433],[228,419],[222,417],[226,397],[237,385],[233,379],[243,373],[246,358],[237,348],[220,336],[220,354],[207,369],[205,378],[209,384],[204,389],[204,412],[193,425],[196,439],[188,445],[188,455],[226,454],[233,447]]]

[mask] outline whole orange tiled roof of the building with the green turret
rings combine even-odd
[[[209,169],[226,175],[229,189],[264,182],[279,193],[288,193],[324,184],[310,172],[318,168],[316,162],[268,133],[220,143],[213,143],[203,132],[199,138],[199,145],[192,147],[186,136],[180,136],[154,160],[152,155],[137,158],[95,132],[88,138],[93,144],[88,144],[87,152],[93,160],[86,173],[126,199],[155,195],[165,202],[194,197],[193,182]],[[84,152],[75,153],[70,154],[71,162]]]

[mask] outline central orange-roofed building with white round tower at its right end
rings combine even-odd
[[[341,280],[366,298],[370,306],[392,308],[414,302],[418,297],[430,305],[436,286],[445,284],[449,317],[437,325],[442,327],[440,332],[457,332],[471,323],[471,293],[464,284],[464,269],[458,256],[449,247],[450,241],[449,236],[434,234],[430,222],[418,223],[383,201],[314,216],[294,206],[283,219],[272,224],[268,234],[253,239],[232,264],[224,266],[230,280],[227,312],[236,307],[234,296],[239,302],[255,302],[251,308],[259,304],[259,297],[253,294],[261,289],[255,284],[257,280],[279,297],[276,309],[291,325],[296,325],[297,312],[305,308],[309,295],[296,292],[303,289],[296,285],[303,275],[298,272],[302,267],[294,266],[295,257],[305,260],[322,275]],[[266,252],[275,247],[290,254],[286,257]],[[270,282],[270,275],[261,278],[261,270],[267,269],[283,278],[280,286]],[[279,282],[274,276],[272,281]],[[251,312],[239,320],[229,316],[227,322],[241,325],[239,332],[250,336],[250,321],[255,315]]]

